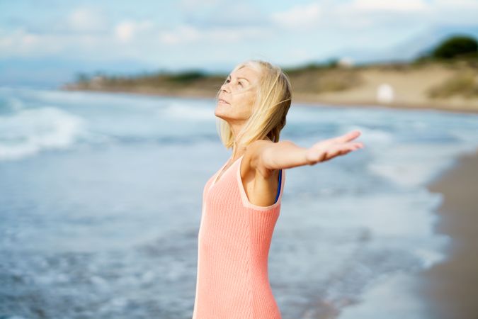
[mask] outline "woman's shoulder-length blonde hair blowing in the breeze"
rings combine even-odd
[[[263,60],[247,60],[234,67],[232,72],[242,67],[256,69],[261,74],[261,78],[258,81],[251,116],[235,140],[229,123],[222,118],[217,118],[217,133],[227,149],[233,147],[239,140],[244,145],[266,137],[273,142],[278,142],[280,130],[285,126],[285,117],[292,101],[290,80],[280,67]],[[221,90],[216,94],[216,101],[220,92]]]

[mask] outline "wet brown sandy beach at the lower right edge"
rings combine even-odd
[[[429,186],[443,194],[436,232],[451,237],[448,259],[421,274],[430,318],[478,318],[478,150]]]

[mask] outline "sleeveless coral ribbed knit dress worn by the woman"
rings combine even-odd
[[[256,206],[242,185],[243,156],[204,186],[193,319],[281,318],[268,280],[268,253],[285,177],[282,169],[275,203]]]

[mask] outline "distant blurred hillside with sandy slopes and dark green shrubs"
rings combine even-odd
[[[478,111],[478,45],[460,35],[410,63],[330,60],[283,71],[290,77],[293,102]],[[62,89],[214,97],[226,77],[200,70],[131,77],[79,74]]]

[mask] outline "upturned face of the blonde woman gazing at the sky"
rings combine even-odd
[[[256,101],[259,74],[251,67],[242,67],[229,74],[221,86],[215,116],[229,123],[246,121]]]

